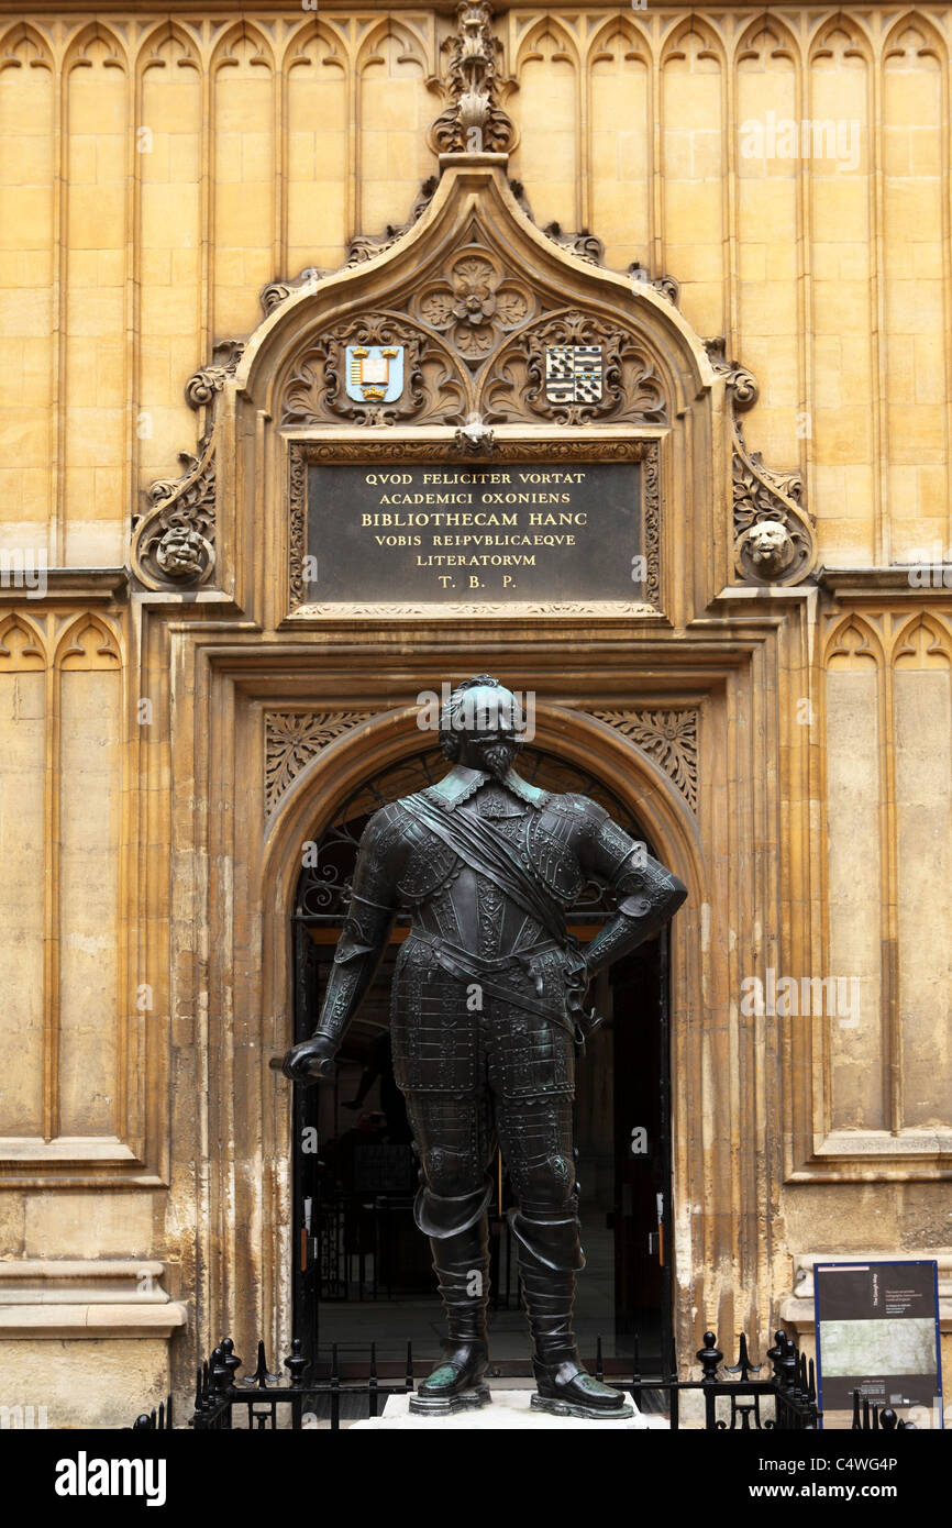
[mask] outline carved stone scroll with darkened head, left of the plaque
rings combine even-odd
[[[215,567],[215,442],[199,442],[197,454],[180,454],[185,472],[159,478],[148,490],[150,509],[133,533],[131,565],[148,588],[194,588]]]

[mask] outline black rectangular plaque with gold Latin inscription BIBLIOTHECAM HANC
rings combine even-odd
[[[645,597],[639,461],[310,463],[307,604]]]

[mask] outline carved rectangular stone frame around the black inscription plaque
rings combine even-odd
[[[662,472],[660,439],[634,440],[585,440],[576,435],[568,440],[500,440],[487,431],[491,440],[474,448],[460,440],[463,431],[455,431],[446,440],[414,440],[399,435],[396,440],[296,440],[287,442],[287,498],[289,498],[289,616],[301,619],[356,619],[356,617],[408,617],[408,616],[659,616],[662,601]],[[402,461],[442,461],[446,465],[478,466],[501,461],[640,461],[642,463],[642,555],[645,558],[645,601],[547,601],[527,604],[353,604],[318,605],[306,604],[304,558],[307,555],[307,465],[335,461],[391,461],[394,454]]]

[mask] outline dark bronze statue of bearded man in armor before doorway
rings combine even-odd
[[[313,1036],[287,1077],[333,1074],[397,912],[413,926],[391,998],[394,1071],[420,1158],[416,1222],[431,1239],[446,1311],[445,1357],[411,1407],[434,1415],[489,1397],[489,1167],[497,1140],[516,1209],[510,1225],[533,1337],[532,1404],[556,1415],[630,1416],[591,1378],[572,1334],[579,1242],[572,1105],[591,976],[660,929],[686,888],[587,796],[556,796],[512,767],[523,715],[487,674],[443,706],[452,769],[382,807],[361,839],[353,895]],[[565,912],[585,880],[616,898],[582,952]]]

